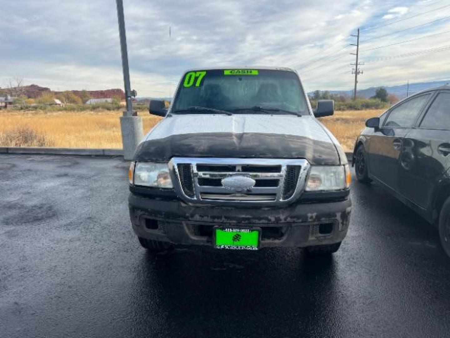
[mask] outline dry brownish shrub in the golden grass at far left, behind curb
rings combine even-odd
[[[1,146],[52,146],[53,142],[45,135],[41,135],[28,126],[19,126],[0,134]]]

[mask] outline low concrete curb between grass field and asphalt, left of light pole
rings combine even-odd
[[[123,156],[123,150],[46,147],[0,147],[0,154]]]

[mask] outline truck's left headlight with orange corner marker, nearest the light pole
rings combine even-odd
[[[130,184],[144,187],[173,188],[169,166],[166,163],[132,162],[129,176]]]

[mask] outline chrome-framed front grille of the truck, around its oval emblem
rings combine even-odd
[[[175,190],[187,202],[278,205],[300,196],[310,164],[306,160],[174,157],[169,166]],[[254,184],[245,189],[225,187],[222,180],[234,176],[252,178]]]

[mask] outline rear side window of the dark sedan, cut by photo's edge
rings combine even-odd
[[[450,130],[450,93],[440,93],[428,109],[421,128]]]

